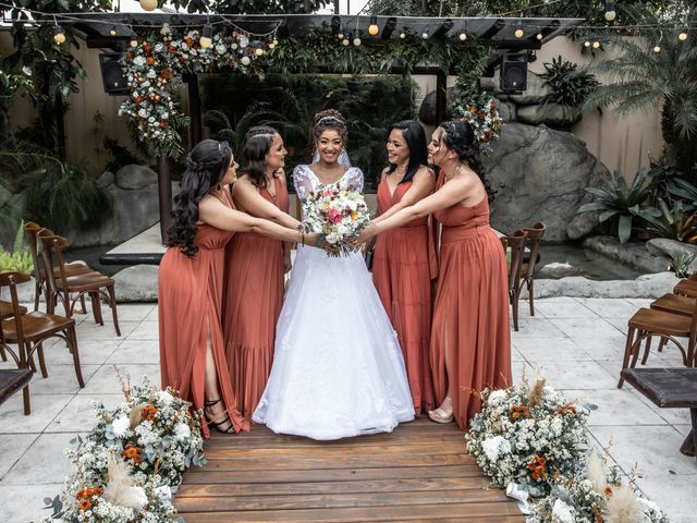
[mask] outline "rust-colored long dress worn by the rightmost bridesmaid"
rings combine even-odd
[[[441,172],[438,188],[443,181]],[[466,429],[481,410],[478,392],[512,385],[505,254],[489,227],[486,197],[433,216],[443,226],[431,327],[433,387],[441,403],[452,381],[455,422]]]

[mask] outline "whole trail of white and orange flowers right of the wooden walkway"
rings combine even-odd
[[[487,389],[481,399],[467,452],[512,497],[537,498],[528,523],[668,523],[656,503],[622,485],[617,467],[606,470],[588,452],[592,405],[567,402],[541,378],[533,387]]]

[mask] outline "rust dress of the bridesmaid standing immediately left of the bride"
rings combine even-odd
[[[259,194],[288,212],[285,183],[273,180],[276,198]],[[225,250],[222,330],[237,409],[248,423],[261,399],[273,362],[276,323],[283,305],[283,242],[239,233]]]

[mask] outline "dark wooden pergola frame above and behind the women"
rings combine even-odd
[[[371,22],[377,22],[378,34],[370,36],[366,31]],[[230,24],[252,34],[271,34],[279,37],[302,36],[311,28],[325,28],[333,32],[351,34],[359,31],[363,45],[370,46],[377,40],[400,38],[402,33],[423,35],[429,39],[455,41],[461,35],[467,38],[489,40],[494,48],[490,57],[488,70],[493,71],[506,51],[537,50],[563,34],[568,28],[583,22],[583,19],[549,17],[411,17],[411,16],[368,16],[339,14],[170,14],[170,13],[81,13],[72,14],[70,20],[61,24],[70,25],[72,31],[83,38],[88,48],[112,49],[120,51],[124,42],[134,35],[133,27],[172,27],[198,28],[204,24],[217,24],[224,27]],[[519,32],[523,32],[521,35]],[[516,35],[517,33],[517,35]],[[338,71],[331,63],[315,68],[307,73],[332,74]],[[394,64],[390,74],[404,74],[404,68]],[[438,65],[424,63],[412,69],[413,74],[436,76],[436,114],[442,121],[447,111],[447,77],[454,71],[444,71]],[[191,113],[189,143],[201,138],[201,113],[198,82],[195,75],[184,78],[188,87],[188,107]],[[171,175],[167,158],[158,159],[160,230],[162,239],[170,223],[172,209]]]

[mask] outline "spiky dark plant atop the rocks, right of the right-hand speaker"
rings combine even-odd
[[[542,100],[546,104],[580,107],[598,87],[596,76],[587,68],[579,68],[561,56],[552,58],[552,63],[545,63],[545,73],[540,77],[551,90]]]

